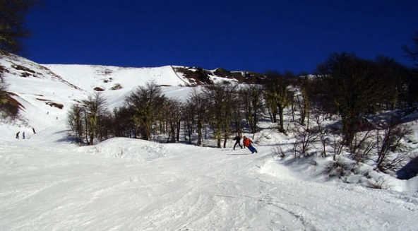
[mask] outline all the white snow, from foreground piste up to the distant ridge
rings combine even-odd
[[[103,79],[90,76],[97,66],[46,66],[61,78],[36,65],[43,78],[5,74],[25,108],[23,119],[0,125],[0,230],[418,230],[417,177],[388,178],[386,190],[327,181],[321,162],[273,155],[273,146],[292,141],[268,129],[246,134],[256,141],[254,154],[232,150],[232,139],[222,149],[210,140],[197,147],[130,138],[77,146],[67,138],[66,110]],[[131,71],[112,71],[111,85],[124,88],[104,91],[109,105],[155,73],[172,85],[163,88],[168,97],[193,90],[179,86],[169,67]]]

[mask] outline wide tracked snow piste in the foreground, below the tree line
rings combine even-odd
[[[109,155],[124,142],[71,150],[7,144],[1,149],[10,154],[1,153],[0,230],[408,230],[416,225],[417,196],[306,182],[272,155],[260,154],[268,147],[258,147],[254,155],[225,155],[216,148],[159,145],[165,155],[155,155],[143,143],[146,147],[136,150],[145,150],[137,152],[147,158]]]

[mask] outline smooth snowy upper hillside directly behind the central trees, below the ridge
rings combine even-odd
[[[94,93],[95,88],[103,90],[107,96],[109,107],[119,107],[126,95],[139,85],[154,81],[163,86],[167,97],[186,97],[192,88],[180,86],[191,85],[181,73],[174,72],[172,66],[156,68],[124,68],[117,66],[89,65],[44,65],[54,73],[80,86],[87,93]],[[170,86],[170,88],[168,88]],[[180,94],[179,94],[180,93]]]

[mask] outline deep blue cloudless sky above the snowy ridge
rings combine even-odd
[[[417,0],[44,0],[28,15],[40,64],[311,72],[333,52],[410,65]]]

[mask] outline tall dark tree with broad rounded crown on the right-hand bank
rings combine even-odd
[[[342,134],[347,146],[352,144],[357,122],[363,114],[376,113],[385,85],[375,61],[359,59],[355,54],[331,54],[317,67],[324,105],[341,116]],[[327,102],[326,102],[327,101]]]

